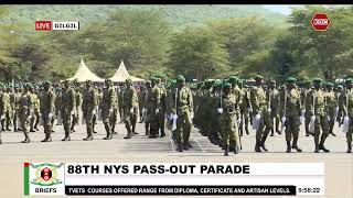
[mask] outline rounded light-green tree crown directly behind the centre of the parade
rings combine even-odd
[[[227,57],[216,34],[204,28],[188,28],[171,37],[168,66],[189,79],[203,80],[229,69]]]

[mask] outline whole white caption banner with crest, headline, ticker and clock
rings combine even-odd
[[[24,195],[324,195],[323,163],[24,163]]]

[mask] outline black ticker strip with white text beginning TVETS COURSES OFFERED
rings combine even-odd
[[[295,196],[296,186],[65,186],[65,195]]]

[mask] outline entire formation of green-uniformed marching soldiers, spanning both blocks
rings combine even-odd
[[[172,131],[179,152],[189,150],[190,132],[194,125],[210,141],[224,150],[224,155],[242,150],[240,136],[256,130],[255,152],[268,152],[268,135],[285,133],[287,150],[302,152],[298,145],[300,125],[306,136],[312,135],[314,152],[330,152],[327,138],[335,136],[335,124],[346,133],[347,153],[352,152],[353,79],[342,84],[324,82],[321,78],[298,82],[289,77],[279,86],[275,80],[265,82],[257,75],[253,80],[229,76],[226,79],[206,79],[186,82],[182,75],[165,80],[152,76],[143,84],[127,79],[125,84],[104,84],[90,80],[64,80],[60,84],[0,84],[1,131],[22,131],[30,143],[30,132],[44,128],[42,142],[52,141],[55,121],[64,127],[62,141],[71,141],[71,133],[79,122],[81,112],[87,136],[94,140],[95,125],[101,119],[106,136],[117,134],[120,118],[127,135],[136,132],[138,119],[145,122],[146,135],[164,138],[164,128]],[[1,133],[0,133],[0,144]]]

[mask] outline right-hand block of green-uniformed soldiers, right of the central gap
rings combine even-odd
[[[211,142],[238,153],[243,131],[249,134],[249,123],[256,130],[255,152],[267,152],[266,139],[286,134],[287,150],[302,152],[298,145],[300,124],[306,127],[306,136],[314,136],[314,152],[330,152],[324,142],[333,133],[335,122],[346,133],[347,153],[352,152],[353,133],[353,79],[334,86],[321,78],[297,85],[290,77],[279,88],[276,81],[265,85],[257,75],[255,81],[228,79],[205,80],[195,91],[194,124]]]

